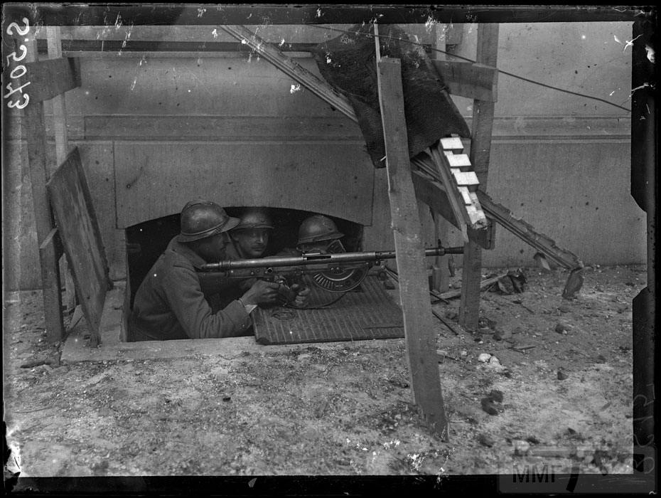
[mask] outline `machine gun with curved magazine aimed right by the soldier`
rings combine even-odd
[[[425,256],[461,254],[463,247],[429,248]],[[300,256],[272,256],[252,260],[230,260],[207,263],[200,267],[200,285],[203,292],[231,285],[231,280],[259,278],[279,282],[281,294],[287,302],[293,300],[289,290],[291,279],[311,275],[312,282],[326,292],[349,292],[360,285],[373,265],[382,260],[396,258],[394,250],[372,251],[367,253],[303,253]]]

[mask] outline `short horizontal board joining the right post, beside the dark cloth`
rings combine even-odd
[[[432,60],[432,62],[452,95],[488,102],[496,102],[498,99],[496,68],[463,60]]]

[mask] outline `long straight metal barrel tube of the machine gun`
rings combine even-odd
[[[461,254],[463,247],[455,248],[429,248],[424,250],[425,256],[442,256],[445,254]],[[269,257],[253,260],[234,260],[220,261],[219,263],[207,263],[202,265],[200,270],[204,272],[228,272],[230,270],[240,270],[249,268],[266,267],[299,267],[308,265],[324,264],[342,264],[342,263],[362,263],[370,261],[380,261],[396,258],[394,250],[371,251],[365,253],[306,253],[301,256]]]

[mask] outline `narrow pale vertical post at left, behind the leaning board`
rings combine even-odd
[[[60,39],[60,26],[47,26],[46,39],[48,41],[48,57],[51,59],[62,57],[62,41]],[[67,107],[65,95],[56,95],[50,101],[53,105],[53,131],[55,134],[55,158],[58,165],[63,164],[69,153],[69,138],[67,133]],[[61,274],[64,275],[67,312],[76,307],[76,290],[67,258],[63,256],[60,262]]]

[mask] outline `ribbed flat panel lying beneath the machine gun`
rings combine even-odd
[[[311,289],[320,293],[320,302],[329,302],[329,296],[333,297],[329,292]],[[404,337],[402,310],[385,292],[382,282],[368,276],[360,290],[347,292],[323,309],[259,309],[254,320],[255,339],[259,344],[296,344]]]

